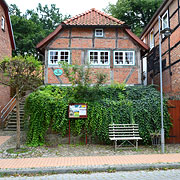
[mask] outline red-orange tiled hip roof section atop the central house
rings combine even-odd
[[[67,19],[63,22],[66,25],[122,25],[123,21],[120,21],[110,15],[107,15],[94,8],[79,14],[75,17]]]

